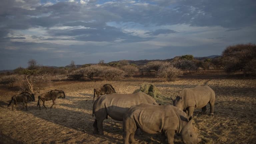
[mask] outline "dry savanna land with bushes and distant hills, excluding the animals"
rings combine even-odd
[[[194,112],[194,129],[202,144],[255,143],[256,45],[228,46],[219,57],[177,56],[168,60],[121,60],[98,64],[47,67],[28,61],[0,76],[0,143],[123,143],[122,122],[104,121],[104,136],[93,134],[93,89],[111,84],[117,93],[145,92],[157,103],[171,104],[183,88],[208,85],[216,94],[214,117]],[[28,111],[7,108],[11,97],[23,91],[65,91],[56,108],[42,109],[28,103]],[[52,101],[46,101],[46,107]],[[209,113],[209,106],[207,106]],[[159,143],[159,135],[135,136],[139,144]],[[182,144],[179,135],[174,143]]]

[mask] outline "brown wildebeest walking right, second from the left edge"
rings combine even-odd
[[[56,98],[65,98],[65,97],[66,96],[65,96],[64,91],[62,91],[62,90],[51,90],[49,92],[40,94],[38,96],[37,106],[39,106],[39,109],[41,110],[40,100],[43,101],[43,106],[45,107],[45,105],[44,105],[45,101],[52,100],[52,106],[53,106],[53,105],[55,105]],[[52,108],[52,106],[50,108]],[[45,107],[45,109],[47,109],[47,108]]]

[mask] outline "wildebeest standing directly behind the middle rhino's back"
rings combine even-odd
[[[114,87],[110,84],[104,84],[103,87],[97,87],[93,89],[93,101],[94,102],[94,98],[95,98],[95,93],[97,94],[97,98],[100,95],[104,95],[104,94],[112,94],[112,93],[116,93]]]

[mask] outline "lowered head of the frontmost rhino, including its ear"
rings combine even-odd
[[[189,118],[189,122],[181,130],[182,140],[185,144],[197,144],[201,142],[201,138],[198,137],[197,133],[193,129],[192,117]]]

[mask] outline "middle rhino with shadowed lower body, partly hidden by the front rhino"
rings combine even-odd
[[[107,116],[117,121],[123,121],[123,115],[131,106],[141,103],[157,104],[151,96],[138,92],[133,94],[102,95],[93,103],[94,132],[103,135],[102,122]]]

